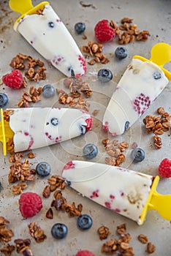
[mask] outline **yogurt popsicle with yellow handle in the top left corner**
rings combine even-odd
[[[28,4],[28,6],[27,6]],[[48,2],[33,7],[29,0],[10,0],[9,7],[23,15],[15,22],[18,31],[50,64],[64,75],[84,75],[86,61],[72,35]]]

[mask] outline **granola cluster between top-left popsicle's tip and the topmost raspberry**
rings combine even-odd
[[[103,45],[100,42],[88,41],[88,45],[83,46],[83,53],[85,59],[92,58],[88,64],[94,65],[95,63],[107,64],[109,59],[102,53]]]

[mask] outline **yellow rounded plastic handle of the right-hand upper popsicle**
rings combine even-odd
[[[134,56],[133,59],[140,59],[141,61],[152,61],[157,64],[164,72],[166,77],[171,80],[171,73],[164,69],[164,64],[171,61],[171,45],[165,42],[159,42],[151,48],[151,59],[145,59],[142,56]]]

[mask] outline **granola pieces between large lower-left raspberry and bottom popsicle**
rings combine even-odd
[[[43,197],[49,197],[50,192],[53,193],[54,200],[51,202],[50,208],[46,213],[47,219],[53,219],[53,210],[51,207],[56,208],[57,211],[62,210],[68,213],[69,217],[80,216],[83,210],[82,204],[75,206],[75,202],[69,204],[66,198],[62,195],[61,190],[65,188],[64,178],[61,176],[51,176],[47,179],[49,185],[45,186],[42,192]],[[59,189],[57,189],[59,188]]]

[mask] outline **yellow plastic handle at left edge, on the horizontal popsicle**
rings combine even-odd
[[[0,141],[3,143],[3,152],[4,156],[7,154],[7,140],[9,138],[13,138],[14,132],[9,127],[9,122],[4,121],[4,113],[3,109],[1,108],[1,121],[0,121]]]

